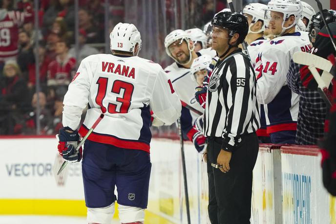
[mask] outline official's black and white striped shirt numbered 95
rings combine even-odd
[[[222,137],[222,149],[232,151],[240,136],[260,127],[256,80],[250,59],[237,49],[218,60],[210,77],[204,135]]]

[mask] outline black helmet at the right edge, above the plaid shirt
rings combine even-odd
[[[323,9],[322,13],[323,13],[323,16],[327,24],[330,22],[336,22],[336,11],[335,10]],[[322,20],[321,13],[318,12],[312,17],[312,23],[310,24],[310,27],[309,27],[309,34],[316,36],[319,30],[323,28],[323,26],[324,26],[324,22]]]

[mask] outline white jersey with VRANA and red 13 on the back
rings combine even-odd
[[[77,129],[84,108],[84,136],[103,112],[88,139],[149,152],[150,110],[165,123],[181,114],[181,103],[162,67],[134,56],[86,57],[64,96],[63,126]],[[150,109],[149,109],[150,108]]]

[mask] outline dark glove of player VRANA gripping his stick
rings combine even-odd
[[[77,145],[80,142],[80,137],[77,131],[67,132],[69,128],[60,129],[56,138],[59,139],[58,152],[68,162],[79,162],[82,159],[82,147],[76,151]]]

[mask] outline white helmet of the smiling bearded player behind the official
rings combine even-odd
[[[186,41],[187,45],[188,45],[188,49],[189,49],[189,61],[185,64],[188,64],[191,61],[192,55],[191,52],[194,50],[195,46],[192,45],[192,47],[189,47],[189,40],[190,36],[187,34],[186,31],[182,30],[182,29],[176,29],[171,31],[165,38],[165,48],[166,48],[166,52],[169,55],[169,57],[171,57],[172,59],[175,60],[176,63],[180,63],[179,61],[177,61],[172,55],[171,52],[169,51],[168,47],[174,43],[177,40],[181,40],[182,41]]]

